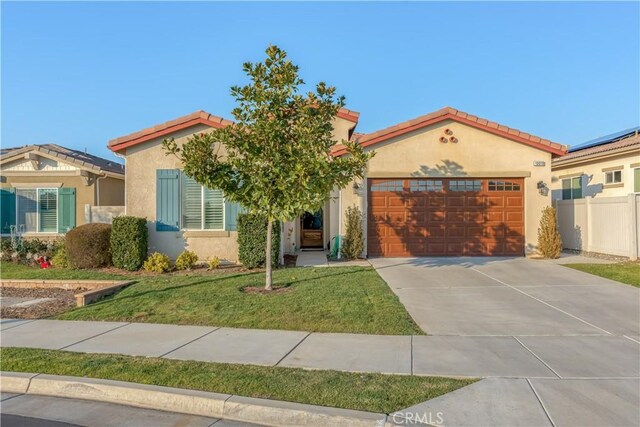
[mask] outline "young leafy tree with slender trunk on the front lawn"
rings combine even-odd
[[[342,141],[348,154],[333,157],[331,122],[344,97],[322,82],[302,94],[304,81],[286,52],[269,46],[266,54],[264,62],[243,65],[247,85],[231,88],[233,124],[196,134],[182,147],[173,140],[164,146],[181,159],[187,176],[267,218],[265,289],[271,290],[274,221],[320,209],[334,187],[362,178],[371,154]]]

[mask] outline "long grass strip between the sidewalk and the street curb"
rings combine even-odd
[[[476,381],[27,348],[3,348],[0,356],[3,371],[102,378],[384,413]]]

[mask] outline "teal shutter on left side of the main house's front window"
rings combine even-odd
[[[180,229],[180,172],[156,170],[156,231]]]

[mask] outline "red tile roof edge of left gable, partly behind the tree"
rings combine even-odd
[[[360,113],[353,110],[347,110],[346,108],[341,108],[338,111],[338,117],[353,123],[358,122],[359,116]],[[120,151],[198,124],[211,126],[213,128],[222,128],[230,125],[231,123],[233,123],[231,120],[226,120],[222,117],[214,116],[213,114],[200,110],[156,126],[142,129],[129,135],[112,139],[109,141],[108,146],[112,151]]]

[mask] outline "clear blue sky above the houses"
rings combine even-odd
[[[107,141],[204,109],[284,48],[358,131],[449,105],[564,144],[640,123],[634,3],[2,3],[2,145]]]

